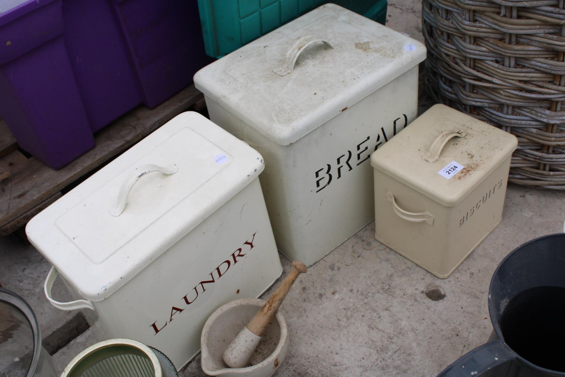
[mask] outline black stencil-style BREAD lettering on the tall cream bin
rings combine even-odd
[[[401,129],[398,129],[398,132],[402,131],[402,129],[405,129],[408,125],[408,116],[406,116],[406,114],[402,114],[401,118],[393,120],[392,136],[397,134],[397,127],[402,123],[404,123],[404,125]],[[336,180],[340,179],[346,174],[346,172],[353,170],[354,166],[359,166],[360,164],[371,158],[371,153],[376,151],[381,145],[388,141],[388,136],[386,135],[384,127],[381,127],[380,132],[374,139],[375,141],[372,142],[371,140],[371,136],[367,136],[366,138],[364,138],[364,140],[360,141],[359,144],[355,146],[355,149],[353,151],[347,150],[345,153],[342,153],[339,157],[337,157],[336,163],[333,166],[331,163],[327,163],[325,167],[321,167],[320,169],[316,170],[314,172],[316,180],[316,192],[320,192],[321,190],[328,187],[334,180],[334,177]],[[371,151],[373,145],[374,149]]]

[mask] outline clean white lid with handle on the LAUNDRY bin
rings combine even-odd
[[[166,167],[167,174],[148,172],[147,164]],[[99,301],[263,167],[261,155],[245,142],[196,112],[184,112],[35,216],[26,233],[82,296]],[[115,205],[125,181],[134,184],[118,214]]]

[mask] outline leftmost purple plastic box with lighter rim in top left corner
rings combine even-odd
[[[94,147],[63,41],[61,0],[0,4],[0,115],[53,168]]]

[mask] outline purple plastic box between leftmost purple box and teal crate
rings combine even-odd
[[[196,2],[63,0],[63,19],[93,132],[141,102],[160,105],[214,60],[205,53]]]

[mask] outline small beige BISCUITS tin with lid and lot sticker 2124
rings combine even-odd
[[[375,238],[445,279],[502,220],[514,135],[434,105],[371,157]]]

